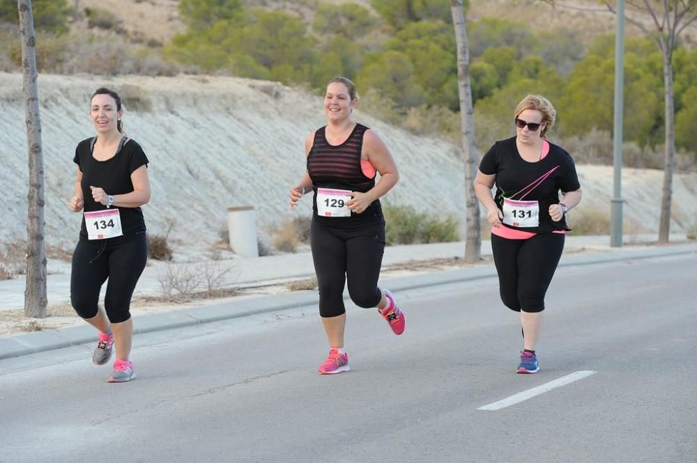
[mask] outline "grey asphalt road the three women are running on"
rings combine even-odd
[[[315,307],[137,336],[130,384],[93,345],[6,359],[0,462],[694,463],[696,275],[558,269],[537,375],[493,278],[399,292],[399,337],[349,308],[341,375],[316,373]]]

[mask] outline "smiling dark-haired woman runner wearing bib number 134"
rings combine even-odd
[[[99,88],[90,104],[97,135],[75,149],[77,182],[68,203],[72,212],[84,210],[72,255],[70,301],[77,314],[100,331],[93,363],[107,363],[116,345],[108,381],[127,382],[135,378],[128,358],[133,338],[130,299],[148,258],[140,209],[150,201],[148,158],[138,143],[123,135],[116,92]],[[99,294],[107,278],[102,310]]]

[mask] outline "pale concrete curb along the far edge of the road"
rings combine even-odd
[[[697,256],[697,244],[646,247],[641,249],[618,249],[618,251],[601,251],[601,253],[597,254],[578,256],[572,254],[562,256],[559,267],[602,265],[612,262],[681,256],[684,254],[695,254]],[[463,269],[441,270],[427,274],[388,278],[383,281],[383,284],[389,286],[390,290],[402,291],[464,281],[476,281],[484,278],[494,278],[496,276],[496,269],[493,265],[487,265],[487,267],[473,266]],[[346,290],[344,291],[344,299],[349,300]],[[180,311],[139,315],[134,317],[134,334],[192,327],[221,320],[232,320],[275,311],[284,311],[289,308],[316,306],[318,301],[319,296],[316,290],[302,290],[284,295],[252,297],[250,299],[226,302],[224,304],[210,304],[204,307],[186,308]],[[34,333],[10,336],[8,338],[0,338],[0,360],[92,343],[94,340],[94,329],[88,324],[79,327],[37,331]]]

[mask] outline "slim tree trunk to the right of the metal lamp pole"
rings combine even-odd
[[[673,168],[675,165],[675,109],[673,107],[672,56],[672,53],[664,53],[663,56],[664,100],[666,104],[666,155],[663,171],[663,192],[661,194],[661,218],[658,227],[658,242],[661,244],[668,243],[668,235],[671,230]]]

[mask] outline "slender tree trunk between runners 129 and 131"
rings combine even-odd
[[[467,41],[465,14],[462,0],[450,0],[452,23],[457,42],[457,88],[460,96],[460,120],[462,130],[463,161],[465,168],[465,205],[467,237],[465,262],[477,262],[482,257],[480,210],[475,196],[475,176],[479,159],[475,147],[474,110],[470,88],[470,50]]]

